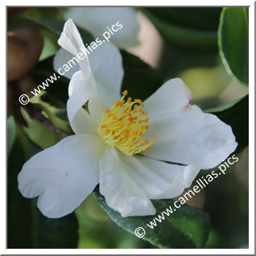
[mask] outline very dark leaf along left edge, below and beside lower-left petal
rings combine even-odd
[[[7,162],[7,248],[29,249],[33,246],[31,200],[24,198],[18,190],[17,175],[26,152],[19,138],[15,138]]]

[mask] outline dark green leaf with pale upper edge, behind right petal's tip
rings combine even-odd
[[[249,143],[249,96],[241,97],[214,109],[205,110],[217,115],[232,127],[238,143],[236,152],[242,151]]]

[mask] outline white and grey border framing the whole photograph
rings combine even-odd
[[[53,4],[54,2],[54,4]],[[1,22],[6,25],[6,6],[20,6],[20,1],[10,0],[4,1],[4,6],[1,6]],[[23,0],[23,6],[36,6],[35,1]],[[84,6],[84,1],[72,0],[72,2],[63,2],[60,0],[44,0],[43,6]],[[72,5],[70,5],[72,3]],[[108,6],[250,6],[249,8],[249,249],[6,249],[6,211],[3,210],[3,205],[6,205],[6,145],[2,143],[1,146],[1,205],[2,211],[0,212],[1,229],[1,242],[0,253],[1,254],[254,254],[254,1],[163,1],[157,2],[130,0],[129,2],[118,2],[109,0]],[[193,5],[191,5],[193,3]],[[104,1],[95,2],[92,0],[86,1],[87,6],[105,6]],[[42,5],[38,5],[42,6]],[[2,56],[6,58],[6,27],[2,25],[1,33],[1,52]],[[6,77],[6,71],[1,68],[1,77]],[[6,86],[0,87],[2,97],[6,96]],[[5,109],[5,114],[2,110],[2,120],[6,120],[6,101],[0,101],[1,109]],[[6,127],[1,126],[1,134],[6,134]],[[3,135],[2,135],[3,137]],[[2,138],[4,141],[5,138]]]

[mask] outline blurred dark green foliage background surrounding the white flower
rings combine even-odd
[[[68,79],[61,77],[40,97],[31,98],[31,104],[21,107],[18,101],[20,94],[28,93],[52,75],[52,59],[59,48],[57,39],[66,10],[63,7],[31,7],[15,11],[15,14],[8,10],[8,31],[19,27],[40,31],[43,50],[26,76],[8,80],[7,247],[247,248],[248,8],[135,8],[143,19],[155,26],[153,36],[158,36],[161,43],[152,51],[159,52],[158,60],[155,65],[150,63],[151,52],[142,56],[137,54],[138,49],[121,51],[125,69],[123,85],[131,97],[145,99],[163,81],[179,76],[192,90],[192,104],[217,114],[233,128],[239,145],[235,152],[239,161],[226,175],[214,180],[188,202],[201,211],[185,206],[180,215],[168,218],[146,237],[147,241],[143,241],[125,229],[132,231],[142,223],[140,221],[148,222],[152,217],[121,220],[118,213],[107,208],[97,189],[75,213],[60,219],[43,217],[36,208],[36,200],[20,195],[17,175],[23,163],[43,148],[72,134],[65,110]],[[88,31],[80,27],[79,30],[84,42],[93,40]],[[147,37],[147,33],[144,36]],[[200,171],[200,175],[204,174],[204,170]],[[160,211],[170,205],[171,200],[159,200],[154,204]],[[189,225],[186,221],[177,222],[184,216],[188,217]],[[188,238],[188,231],[192,237]],[[174,235],[179,239],[175,240]]]

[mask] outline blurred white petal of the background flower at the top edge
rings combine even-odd
[[[138,45],[138,19],[136,12],[130,7],[75,7],[65,14],[65,18],[73,19],[77,25],[90,31],[95,38],[104,39],[103,34],[109,33],[110,29],[114,35],[109,33],[109,40],[118,47]],[[117,23],[122,24],[122,27],[114,26]],[[113,26],[116,32],[113,31]]]

